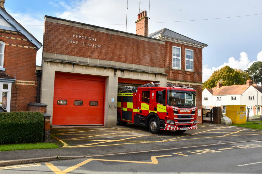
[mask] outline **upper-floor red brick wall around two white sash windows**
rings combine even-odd
[[[173,46],[181,47],[181,70],[172,69]],[[185,49],[194,50],[194,72],[185,71]],[[166,41],[165,73],[167,79],[202,83],[202,49]]]

